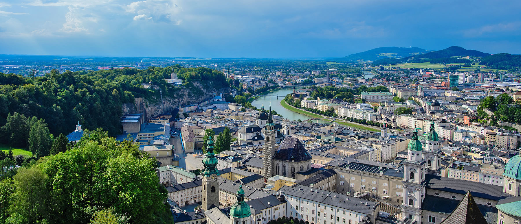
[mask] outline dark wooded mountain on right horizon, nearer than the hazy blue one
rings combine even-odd
[[[426,62],[431,63],[470,63],[469,59],[460,59],[459,56],[470,56],[470,57],[487,57],[490,56],[488,53],[483,53],[477,50],[467,50],[463,47],[452,46],[443,50],[437,50],[428,52],[422,55],[414,55],[401,59],[384,58],[373,62],[375,65],[380,64],[398,64],[398,63],[412,63],[412,62]]]

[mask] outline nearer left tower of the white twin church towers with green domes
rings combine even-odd
[[[427,168],[423,159],[418,130],[414,128],[413,139],[407,147],[407,159],[403,161],[403,200],[402,217],[421,221],[421,203],[425,197],[425,173]]]

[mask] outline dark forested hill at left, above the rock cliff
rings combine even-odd
[[[164,98],[174,98],[180,88],[167,88],[171,71],[183,80],[185,89],[198,81],[205,87],[229,87],[222,72],[208,68],[113,69],[58,73],[53,70],[43,77],[23,77],[0,73],[0,126],[8,114],[19,112],[26,117],[43,118],[55,136],[70,133],[80,122],[84,128],[103,128],[110,135],[120,133],[122,104],[133,103],[135,97],[159,100],[159,90],[144,89],[142,83],[154,82]],[[204,94],[204,93],[194,93]],[[6,139],[5,129],[0,134]]]

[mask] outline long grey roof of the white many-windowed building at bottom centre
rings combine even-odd
[[[279,191],[284,195],[296,196],[368,215],[373,215],[378,206],[378,203],[373,201],[302,185],[296,186],[295,188],[284,186]]]

